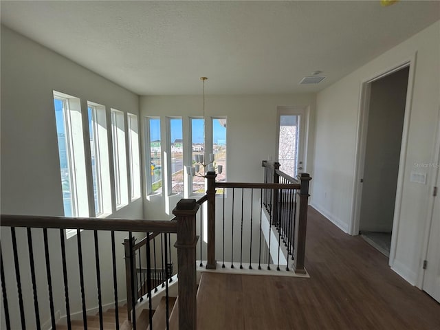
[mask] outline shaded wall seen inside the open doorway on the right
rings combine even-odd
[[[371,83],[360,231],[391,232],[409,68]]]

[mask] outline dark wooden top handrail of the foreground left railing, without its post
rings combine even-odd
[[[110,218],[72,218],[36,215],[1,214],[1,226],[112,230],[117,232],[177,232],[176,221],[110,219]]]

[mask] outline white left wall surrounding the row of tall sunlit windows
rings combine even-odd
[[[87,50],[85,50],[87,51]],[[93,72],[80,67],[41,45],[1,27],[1,213],[63,215],[60,164],[54,115],[53,90],[76,96],[83,102],[97,102],[120,111],[139,113],[139,98],[135,94],[111,83]],[[87,113],[87,109],[83,109]],[[89,157],[89,155],[86,155]],[[90,160],[90,159],[89,159]],[[111,217],[142,218],[142,199],[138,199]],[[19,317],[15,272],[12,266],[9,230],[1,231],[5,276],[8,285],[9,311],[12,314],[12,329],[19,329]],[[96,276],[94,264],[93,233],[83,234],[83,254],[87,296],[92,297],[87,308],[96,307]],[[116,234],[118,278],[120,298],[124,298],[124,261],[122,245],[124,233]],[[17,230],[17,239],[27,256],[25,230]],[[52,280],[54,284],[55,309],[65,315],[64,289],[61,275],[59,232],[50,231]],[[111,279],[110,234],[102,233],[100,240],[100,262],[104,303],[113,298]],[[35,230],[34,254],[39,283],[39,300],[42,323],[50,320],[47,305],[47,282],[42,234]],[[71,312],[80,311],[80,288],[76,237],[67,240],[69,261],[69,294]],[[21,258],[21,283],[25,297],[25,314],[28,327],[34,327],[32,284],[27,257]],[[7,265],[7,266],[6,266]],[[93,300],[93,301],[92,301]],[[2,314],[1,327],[5,327]]]

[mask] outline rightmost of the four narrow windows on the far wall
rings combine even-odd
[[[226,118],[212,118],[212,153],[214,153],[214,166],[222,166],[221,174],[217,181],[226,181]],[[223,193],[217,189],[217,194]]]

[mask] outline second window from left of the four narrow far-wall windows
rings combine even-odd
[[[184,192],[184,150],[181,118],[169,118],[170,160],[168,162],[169,191]]]

